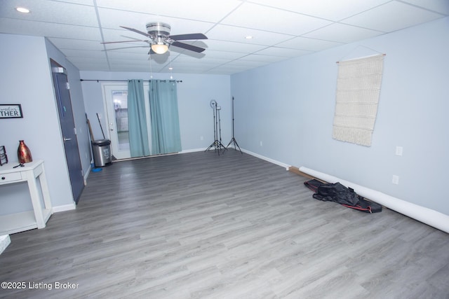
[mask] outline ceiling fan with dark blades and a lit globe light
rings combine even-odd
[[[186,40],[194,40],[194,39],[208,39],[207,36],[201,33],[192,33],[192,34],[178,34],[178,35],[170,35],[170,25],[163,22],[150,22],[147,24],[147,33],[141,32],[138,29],[120,26],[121,28],[130,30],[132,32],[136,32],[138,34],[142,34],[143,36],[147,36],[149,40],[145,40],[146,43],[149,43],[151,49],[149,50],[149,54],[163,54],[166,53],[170,46],[175,46],[178,48],[183,48],[186,50],[191,50],[196,53],[201,53],[204,48],[200,48],[197,46],[190,45],[189,43],[181,43],[180,41]],[[131,41],[108,41],[104,43],[127,43]]]

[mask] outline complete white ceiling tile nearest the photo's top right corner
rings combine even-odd
[[[382,32],[393,32],[398,29],[429,22],[441,18],[442,15],[417,8],[398,1],[391,1],[370,11],[359,13],[342,21],[349,25],[370,28]],[[379,22],[382,20],[382,22]]]

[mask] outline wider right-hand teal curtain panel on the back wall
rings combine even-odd
[[[180,152],[176,81],[152,80],[149,83],[149,107],[152,118],[152,153]]]

